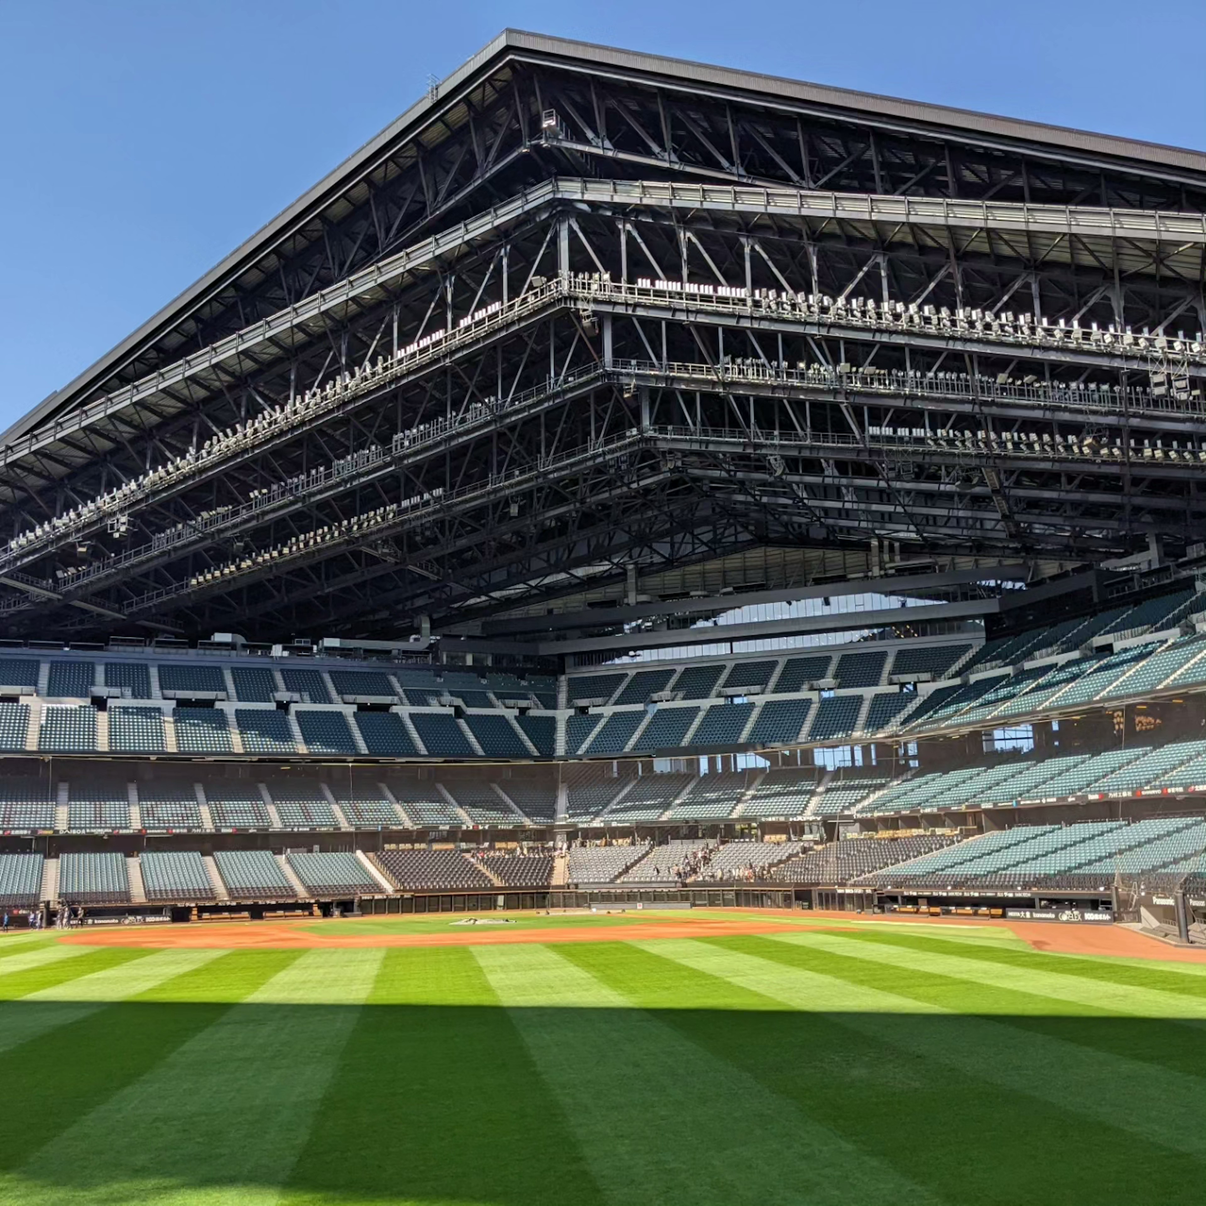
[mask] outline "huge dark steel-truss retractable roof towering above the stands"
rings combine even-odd
[[[555,656],[755,552],[1178,556],[1204,213],[1198,152],[508,31],[6,433],[0,624]]]

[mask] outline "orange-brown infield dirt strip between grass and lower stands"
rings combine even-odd
[[[525,914],[531,920],[532,914]],[[380,918],[367,918],[367,921]],[[316,950],[335,947],[478,947],[508,943],[539,942],[633,942],[651,938],[712,938],[739,935],[784,933],[794,930],[847,930],[855,920],[849,913],[766,914],[759,911],[732,909],[724,915],[695,913],[683,920],[643,920],[631,925],[516,927],[466,926],[432,929],[429,933],[367,933],[349,932],[346,926],[323,932],[321,921],[310,918],[298,921],[232,921],[162,927],[121,927],[84,930],[64,935],[63,942],[98,947],[150,947],[157,949],[224,949],[224,950]],[[870,918],[866,924],[908,924],[920,926],[955,926],[962,929],[1005,927],[1029,943],[1035,950],[1065,955],[1112,955],[1130,959],[1157,959],[1169,962],[1206,965],[1206,950],[1190,950],[1136,933],[1120,925],[1056,925],[1043,921],[964,921],[955,918]]]

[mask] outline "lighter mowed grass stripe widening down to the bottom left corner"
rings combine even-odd
[[[275,974],[254,977],[259,983],[240,1003],[137,1007],[140,1014],[207,1020],[42,1148],[5,1187],[2,1200],[21,1206],[275,1202],[382,953],[236,952],[228,958],[262,954],[287,961],[263,965]],[[147,1126],[148,1118],[171,1124]]]

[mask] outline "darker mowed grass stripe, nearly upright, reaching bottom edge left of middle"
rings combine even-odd
[[[462,947],[386,953],[318,1116],[288,1206],[605,1202],[510,1014]]]

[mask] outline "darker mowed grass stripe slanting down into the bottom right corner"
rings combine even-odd
[[[701,962],[710,971],[701,971],[665,954],[673,950],[679,959],[690,958],[692,946],[640,942],[627,952],[582,946],[566,954],[624,988],[634,1001],[687,1003],[657,1017],[744,1067],[768,1089],[791,1097],[848,1143],[926,1183],[944,1201],[1073,1206],[1100,1201],[1116,1187],[1136,1195],[1125,1200],[1152,1206],[1193,1200],[1183,1193],[1198,1173],[1193,1161],[1164,1149],[1153,1152],[1149,1144],[1110,1128],[1101,1128],[1107,1132],[1101,1140],[1085,1142],[1085,1119],[1062,1103],[1001,1090],[976,1071],[947,1066],[880,1037],[885,1025],[903,1023],[935,1032],[941,1042],[944,1015],[785,1008],[784,1002],[733,982],[743,978],[738,967],[747,971],[756,960],[704,949]],[[773,988],[773,979],[761,970],[754,974],[763,989]],[[812,979],[802,978],[812,993]],[[780,995],[795,997],[790,990]],[[754,1008],[745,1003],[750,999],[757,1002]],[[851,1019],[862,1025],[850,1025]],[[991,1157],[984,1158],[988,1143]],[[1083,1164],[1079,1152],[1088,1154]],[[1182,1173],[1189,1169],[1192,1176],[1176,1182],[1169,1171],[1175,1167]],[[1158,1173],[1155,1181],[1152,1170]],[[1172,1193],[1167,1192],[1170,1181]]]

